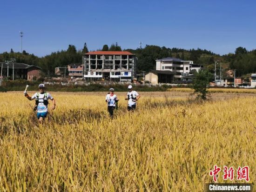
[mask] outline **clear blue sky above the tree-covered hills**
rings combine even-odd
[[[157,45],[234,53],[256,49],[256,0],[2,0],[0,53],[37,56],[89,50],[112,43],[125,48]]]

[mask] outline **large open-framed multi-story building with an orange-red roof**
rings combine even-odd
[[[83,55],[84,79],[131,81],[136,77],[136,56],[127,51],[94,51]]]

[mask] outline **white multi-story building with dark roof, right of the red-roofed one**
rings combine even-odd
[[[194,64],[193,61],[172,57],[156,60],[156,70],[174,72],[174,80],[181,80],[183,77],[188,76],[190,71],[196,70],[198,72],[200,69],[202,69],[202,66]]]

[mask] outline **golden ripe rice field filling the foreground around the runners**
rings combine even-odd
[[[254,95],[141,93],[128,113],[126,93],[116,93],[111,119],[106,93],[51,94],[56,109],[39,125],[34,101],[0,93],[0,191],[200,192],[214,165],[249,166],[256,180]],[[227,182],[244,183],[218,178]]]

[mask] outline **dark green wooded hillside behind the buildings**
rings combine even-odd
[[[110,47],[103,45],[102,49],[98,51],[122,51],[122,49],[121,46],[115,43]],[[137,49],[124,49],[123,51],[129,51],[137,56],[138,73],[155,69],[155,60],[166,57],[193,60],[195,64],[203,65],[212,73],[214,73],[215,61],[218,63],[222,62],[223,74],[225,74],[225,72],[228,73],[230,69],[236,69],[236,76],[248,76],[250,73],[256,73],[256,50],[248,51],[244,47],[238,47],[235,53],[222,56],[200,48],[186,50],[155,45],[146,45],[144,48]],[[16,62],[40,66],[43,73],[53,76],[55,67],[81,63],[83,53],[88,53],[86,43],[81,50],[77,50],[74,45],[68,45],[67,50],[53,52],[44,57],[37,57],[33,53],[27,53],[25,50],[22,53],[15,53],[13,49],[11,49],[9,53],[4,52],[0,54],[0,62],[15,58]],[[217,66],[217,73],[219,73],[219,68],[220,67]]]

